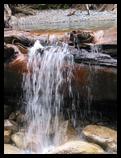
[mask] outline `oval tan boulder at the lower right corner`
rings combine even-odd
[[[88,125],[83,129],[82,134],[88,141],[97,143],[106,150],[117,151],[117,132],[113,129],[99,125]]]

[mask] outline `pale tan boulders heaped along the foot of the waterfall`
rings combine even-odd
[[[24,154],[39,153],[37,135],[27,137],[25,114],[16,111],[9,115],[4,122],[4,153]],[[22,123],[22,124],[21,124]],[[87,124],[87,125],[86,125]],[[19,129],[18,129],[19,127]],[[117,153],[117,131],[99,124],[89,124],[83,121],[83,126],[78,124],[74,128],[69,120],[62,121],[60,128],[66,133],[60,145],[44,151],[45,154],[116,154]],[[79,128],[81,127],[81,128]],[[43,132],[43,131],[41,131]],[[53,131],[50,129],[49,134]]]

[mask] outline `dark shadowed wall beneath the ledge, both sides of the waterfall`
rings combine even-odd
[[[7,68],[4,70],[5,94],[12,94],[12,96],[16,96],[17,94],[18,96],[21,96],[22,74],[18,74],[17,65],[15,67],[16,72],[10,71],[10,69]],[[84,108],[86,107],[86,111],[88,111],[88,106],[85,105],[88,105],[88,101],[91,98],[90,108],[92,111],[95,110],[96,112],[101,112],[103,113],[103,116],[105,115],[111,120],[114,120],[113,118],[116,118],[117,111],[117,69],[102,66],[89,67],[88,65],[75,64],[73,73],[74,78],[72,79],[72,91],[75,97],[78,93],[79,97],[81,98],[78,104],[80,106],[76,105],[75,103],[76,108],[82,109],[82,106],[84,105]],[[69,105],[71,106],[72,99],[69,98],[66,88],[67,86],[68,85],[65,83],[65,85],[62,85],[62,87],[60,88],[60,93],[62,92],[64,95],[64,111],[65,105],[67,107]],[[88,99],[87,96],[89,96]],[[78,98],[76,98],[76,100],[77,99]],[[13,101],[15,101],[14,97],[12,98],[11,108],[13,108]],[[18,103],[17,101],[19,102],[19,98],[18,100],[16,100],[16,103]],[[15,106],[16,103],[14,103]],[[82,110],[80,111],[80,113],[81,112]]]

